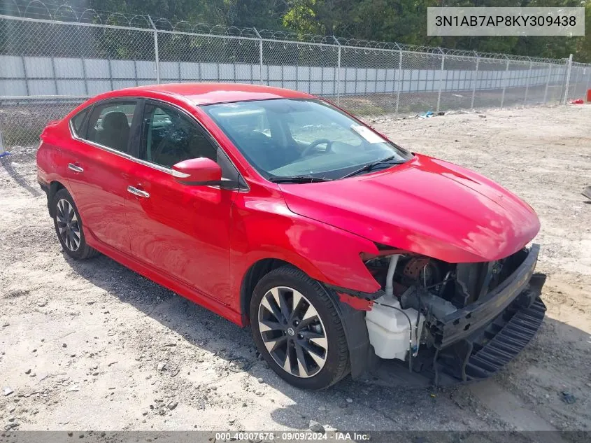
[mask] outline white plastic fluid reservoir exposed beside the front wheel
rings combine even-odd
[[[391,307],[381,306],[380,304],[387,304]],[[376,351],[376,356],[380,358],[398,358],[405,360],[409,348],[409,339],[411,337],[412,328],[412,348],[418,349],[420,334],[422,330],[422,323],[424,317],[421,315],[417,317],[417,311],[413,308],[399,311],[400,303],[394,296],[384,295],[373,303],[371,311],[365,314],[365,323],[367,324],[367,332],[369,332],[369,342]],[[408,318],[407,318],[408,316]],[[408,321],[411,324],[408,324]],[[417,326],[418,321],[418,328]],[[415,337],[418,335],[418,337]]]

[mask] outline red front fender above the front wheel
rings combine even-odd
[[[240,300],[241,281],[257,261],[284,260],[329,286],[374,293],[380,285],[359,253],[378,253],[372,241],[331,225],[299,216],[281,199],[235,202],[232,212],[232,290]],[[252,203],[252,204],[250,204]]]

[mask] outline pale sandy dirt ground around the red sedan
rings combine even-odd
[[[250,330],[104,256],[64,255],[34,148],[0,167],[0,426],[19,430],[590,430],[591,106],[372,120],[475,169],[541,218],[539,335],[493,379],[443,390],[285,384]],[[458,202],[462,204],[462,202]],[[563,393],[574,395],[567,404]],[[557,441],[557,440],[553,440]]]

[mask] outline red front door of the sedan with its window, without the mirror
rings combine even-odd
[[[190,115],[145,101],[139,155],[127,184],[131,254],[169,278],[227,303],[229,232],[238,172]],[[208,157],[222,167],[225,187],[178,183],[173,164]]]

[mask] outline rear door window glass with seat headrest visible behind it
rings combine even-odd
[[[135,101],[94,106],[88,120],[86,139],[107,148],[127,152],[131,121],[136,108]]]

